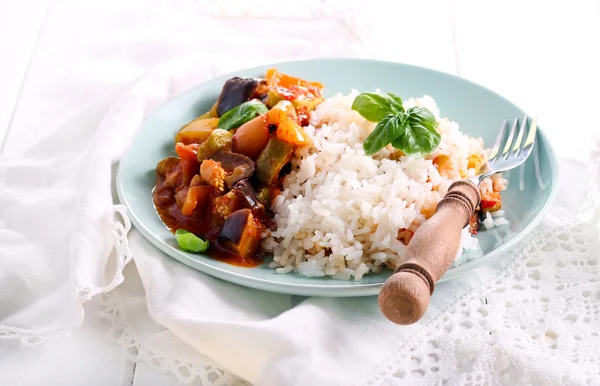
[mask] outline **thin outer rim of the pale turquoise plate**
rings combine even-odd
[[[381,289],[383,283],[349,284],[348,282],[341,281],[341,280],[339,281],[339,284],[336,283],[336,284],[327,284],[327,285],[318,284],[318,283],[305,284],[305,283],[274,282],[274,281],[259,278],[259,277],[253,277],[253,276],[244,275],[244,274],[241,274],[238,272],[228,271],[226,269],[207,264],[201,260],[194,259],[193,257],[189,256],[188,253],[179,251],[179,250],[167,245],[166,243],[162,242],[161,239],[158,237],[158,235],[156,235],[152,231],[150,231],[149,228],[147,226],[145,226],[143,224],[143,222],[140,221],[140,219],[137,217],[137,215],[130,209],[131,206],[129,205],[129,201],[127,200],[126,194],[123,190],[124,184],[123,184],[123,180],[122,180],[123,172],[122,172],[121,161],[129,155],[131,147],[137,141],[138,137],[140,136],[140,134],[142,132],[142,128],[148,123],[148,121],[153,116],[159,114],[163,109],[168,107],[168,105],[173,103],[173,101],[177,100],[178,98],[184,97],[185,95],[193,92],[196,89],[202,88],[205,84],[213,81],[216,78],[235,76],[236,74],[239,74],[240,72],[250,72],[250,71],[254,71],[254,70],[259,71],[266,67],[277,67],[277,66],[288,65],[288,64],[301,64],[301,63],[305,63],[305,62],[316,62],[316,61],[318,61],[318,62],[339,62],[339,63],[351,61],[351,62],[362,62],[365,64],[377,64],[377,65],[386,64],[386,65],[390,65],[390,66],[409,67],[409,68],[413,68],[413,69],[416,69],[419,71],[424,71],[426,73],[428,72],[428,73],[433,73],[436,75],[457,78],[457,79],[460,79],[462,82],[466,82],[477,88],[484,89],[486,92],[489,92],[489,93],[503,99],[505,102],[507,102],[512,107],[516,108],[517,110],[519,110],[521,112],[525,111],[524,109],[519,107],[517,104],[513,103],[510,99],[504,97],[502,94],[500,94],[494,90],[491,90],[479,83],[471,81],[469,79],[466,79],[466,78],[463,78],[463,77],[460,77],[458,75],[454,75],[451,73],[447,73],[444,71],[439,71],[439,70],[435,70],[432,68],[428,68],[428,67],[423,67],[423,66],[418,66],[418,65],[414,65],[414,64],[408,64],[408,63],[402,63],[402,62],[386,61],[386,60],[366,59],[366,58],[346,58],[346,57],[287,60],[287,61],[266,63],[266,64],[254,66],[254,67],[240,68],[235,71],[231,71],[231,72],[228,72],[225,74],[220,74],[220,75],[211,77],[210,79],[207,79],[201,83],[193,85],[192,87],[169,97],[167,100],[163,101],[157,108],[152,110],[143,119],[142,123],[140,124],[139,128],[137,129],[137,132],[133,136],[133,139],[131,140],[129,146],[127,147],[127,150],[123,153],[123,156],[121,157],[121,159],[119,159],[119,165],[117,168],[117,173],[116,173],[116,178],[115,178],[117,196],[119,198],[120,203],[126,207],[127,216],[131,220],[131,223],[135,226],[136,230],[138,232],[140,232],[140,234],[142,234],[142,236],[147,241],[149,241],[152,245],[154,245],[156,248],[158,248],[161,252],[168,255],[170,258],[174,258],[175,260],[179,261],[180,263],[185,264],[185,265],[189,266],[190,268],[195,269],[199,272],[202,272],[202,273],[211,275],[213,277],[219,278],[221,280],[232,282],[232,283],[235,283],[238,285],[242,285],[242,286],[246,286],[246,287],[250,287],[250,288],[254,288],[254,289],[259,289],[259,290],[270,291],[270,292],[283,293],[283,294],[288,294],[288,295],[299,295],[299,296],[353,297],[353,296],[377,295],[379,293],[379,290]],[[498,258],[502,254],[510,251],[511,249],[513,249],[516,246],[518,246],[519,244],[521,244],[521,242],[523,241],[525,236],[530,234],[538,226],[538,224],[540,223],[540,221],[543,218],[543,215],[546,213],[546,211],[548,210],[548,207],[552,204],[552,202],[554,201],[554,199],[556,197],[556,193],[558,190],[557,189],[558,177],[559,177],[558,158],[556,157],[556,153],[553,149],[551,142],[549,141],[548,137],[544,133],[543,129],[539,127],[539,125],[538,125],[538,135],[543,140],[544,149],[545,149],[546,153],[548,154],[548,159],[550,160],[550,170],[551,170],[551,174],[552,174],[552,179],[550,181],[551,182],[550,183],[550,185],[551,185],[550,193],[547,196],[546,201],[543,204],[543,206],[541,207],[541,209],[538,211],[538,213],[534,216],[533,220],[526,227],[524,227],[514,238],[509,240],[507,243],[502,244],[500,247],[494,249],[493,251],[491,251],[481,257],[477,257],[476,259],[478,260],[478,265],[473,267],[473,269],[477,269],[479,266],[484,265],[484,264],[489,264],[491,261]],[[536,145],[536,146],[539,146],[539,142],[538,142],[538,145]],[[450,272],[452,272],[451,269],[448,270],[448,272],[444,276],[442,276],[442,278],[440,278],[440,280],[437,283],[441,283],[443,281],[450,280],[455,277],[461,276],[461,273],[457,273],[456,275],[448,275],[448,273],[450,273]],[[323,294],[323,292],[325,292],[325,291],[327,292],[326,295]]]

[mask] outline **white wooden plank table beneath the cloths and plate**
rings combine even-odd
[[[86,12],[87,5],[75,7],[72,27],[87,26],[85,18],[91,21],[101,3],[85,3],[94,4],[90,12]],[[118,2],[107,3],[104,15],[121,7]],[[420,64],[481,83],[537,112],[541,126],[563,156],[580,158],[584,154],[582,136],[600,130],[593,116],[600,106],[600,0],[507,0],[495,6],[477,0],[414,3],[397,2],[396,12],[414,15],[399,17],[398,13],[386,12],[387,2],[369,2],[381,7],[374,28],[375,37],[382,37],[380,41],[395,33],[400,22],[416,29],[414,36],[406,37],[402,49],[373,47],[382,52],[381,58]],[[133,15],[138,6],[142,12],[141,2],[127,3],[127,10]],[[28,108],[36,95],[58,93],[56,83],[48,80],[52,74],[44,73],[46,64],[56,65],[60,60],[53,55],[53,48],[61,42],[72,43],[72,50],[85,47],[85,40],[65,33],[69,25],[53,24],[57,13],[68,12],[69,7],[58,0],[0,5],[3,151],[17,147],[33,131],[43,131],[43,125],[34,124],[37,112]],[[110,21],[105,23],[110,25]],[[103,22],[95,20],[89,28],[102,27]],[[115,60],[127,60],[126,54]],[[80,64],[89,66],[83,59]],[[93,71],[93,67],[87,70]],[[564,113],[565,109],[578,114]],[[45,123],[55,123],[51,114],[46,116],[50,118]],[[171,374],[127,360],[120,347],[105,340],[107,326],[97,311],[97,302],[92,300],[86,305],[84,325],[69,339],[33,348],[14,344],[0,351],[0,385],[179,384]]]

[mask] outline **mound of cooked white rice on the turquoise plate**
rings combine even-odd
[[[434,211],[453,181],[475,175],[468,158],[486,154],[481,140],[440,119],[435,101],[425,96],[404,105],[424,106],[436,116],[439,148],[421,159],[395,161],[391,146],[366,156],[362,143],[375,124],[351,110],[356,95],[338,94],[318,106],[305,128],[314,145],[297,151],[273,201],[275,227],[262,247],[273,254],[271,267],[279,273],[360,280],[384,266],[394,269],[407,248],[397,239],[399,230],[414,231],[425,220],[421,212]],[[433,164],[438,155],[450,159],[443,172]],[[476,243],[465,228],[458,256]]]

